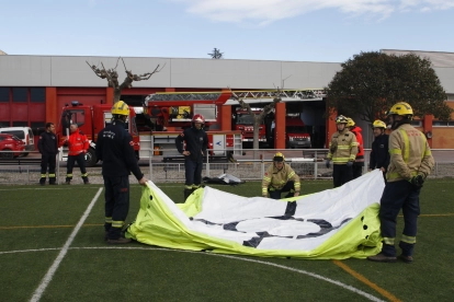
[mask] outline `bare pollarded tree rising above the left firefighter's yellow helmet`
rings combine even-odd
[[[120,84],[118,82],[118,72],[116,71],[116,68],[118,67],[118,61],[120,59],[122,59],[123,61],[123,66],[125,68],[125,72],[126,72],[126,78],[123,80],[123,83]],[[132,88],[133,86],[133,82],[134,81],[146,81],[149,78],[151,78],[152,74],[159,72],[162,70],[162,68],[164,68],[164,66],[162,66],[162,68],[159,68],[159,65],[155,68],[154,71],[151,72],[146,72],[144,74],[134,74],[132,70],[127,70],[125,61],[123,60],[122,57],[120,57],[116,60],[116,65],[114,68],[110,68],[106,69],[104,67],[104,63],[101,62],[101,68],[94,65],[90,65],[88,61],[86,61],[88,63],[88,66],[90,66],[91,70],[93,70],[94,74],[97,74],[99,78],[101,79],[106,79],[107,80],[107,84],[110,88],[114,89],[114,100],[113,103],[115,104],[116,102],[120,101],[120,97],[122,96],[122,90],[126,89],[126,88]]]

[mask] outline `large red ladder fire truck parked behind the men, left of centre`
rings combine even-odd
[[[241,154],[240,131],[209,130],[209,127],[218,124],[218,106],[228,98],[228,93],[220,92],[157,93],[146,97],[144,107],[129,107],[127,130],[133,137],[137,159],[162,156],[163,161],[168,161],[182,158],[175,149],[174,139],[182,129],[191,127],[191,119],[195,114],[205,117],[211,158],[229,160],[234,155]],[[65,136],[69,133],[69,125],[78,124],[79,129],[90,140],[90,149],[86,156],[87,166],[93,166],[98,162],[94,152],[97,136],[112,121],[111,108],[112,105],[82,105],[78,102],[72,102],[71,106],[63,108],[61,120],[57,126],[60,146]],[[149,125],[148,131],[138,131],[138,115],[146,119],[145,124]],[[65,161],[67,158],[65,148],[63,150],[60,160]]]

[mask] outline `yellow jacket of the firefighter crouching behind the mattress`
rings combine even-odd
[[[288,181],[293,181],[295,184],[295,191],[299,191],[299,176],[293,171],[293,169],[284,163],[281,170],[277,170],[271,164],[265,171],[262,179],[262,196],[268,195],[268,188],[282,189]]]

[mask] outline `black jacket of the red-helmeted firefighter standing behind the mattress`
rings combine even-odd
[[[186,142],[184,150],[183,141]],[[175,146],[178,152],[180,153],[183,153],[183,151],[190,151],[191,154],[189,156],[192,161],[203,162],[203,154],[206,154],[206,148],[208,148],[208,136],[203,129],[197,130],[194,127],[186,128],[175,138]]]

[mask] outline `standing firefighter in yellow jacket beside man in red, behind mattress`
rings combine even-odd
[[[326,166],[332,169],[332,181],[334,188],[353,179],[353,163],[357,153],[357,141],[353,132],[347,128],[348,119],[343,115],[336,118],[338,131],[336,131],[329,142],[328,159]]]

